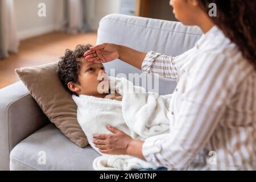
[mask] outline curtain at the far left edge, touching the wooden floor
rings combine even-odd
[[[13,0],[0,0],[0,58],[18,52]]]

